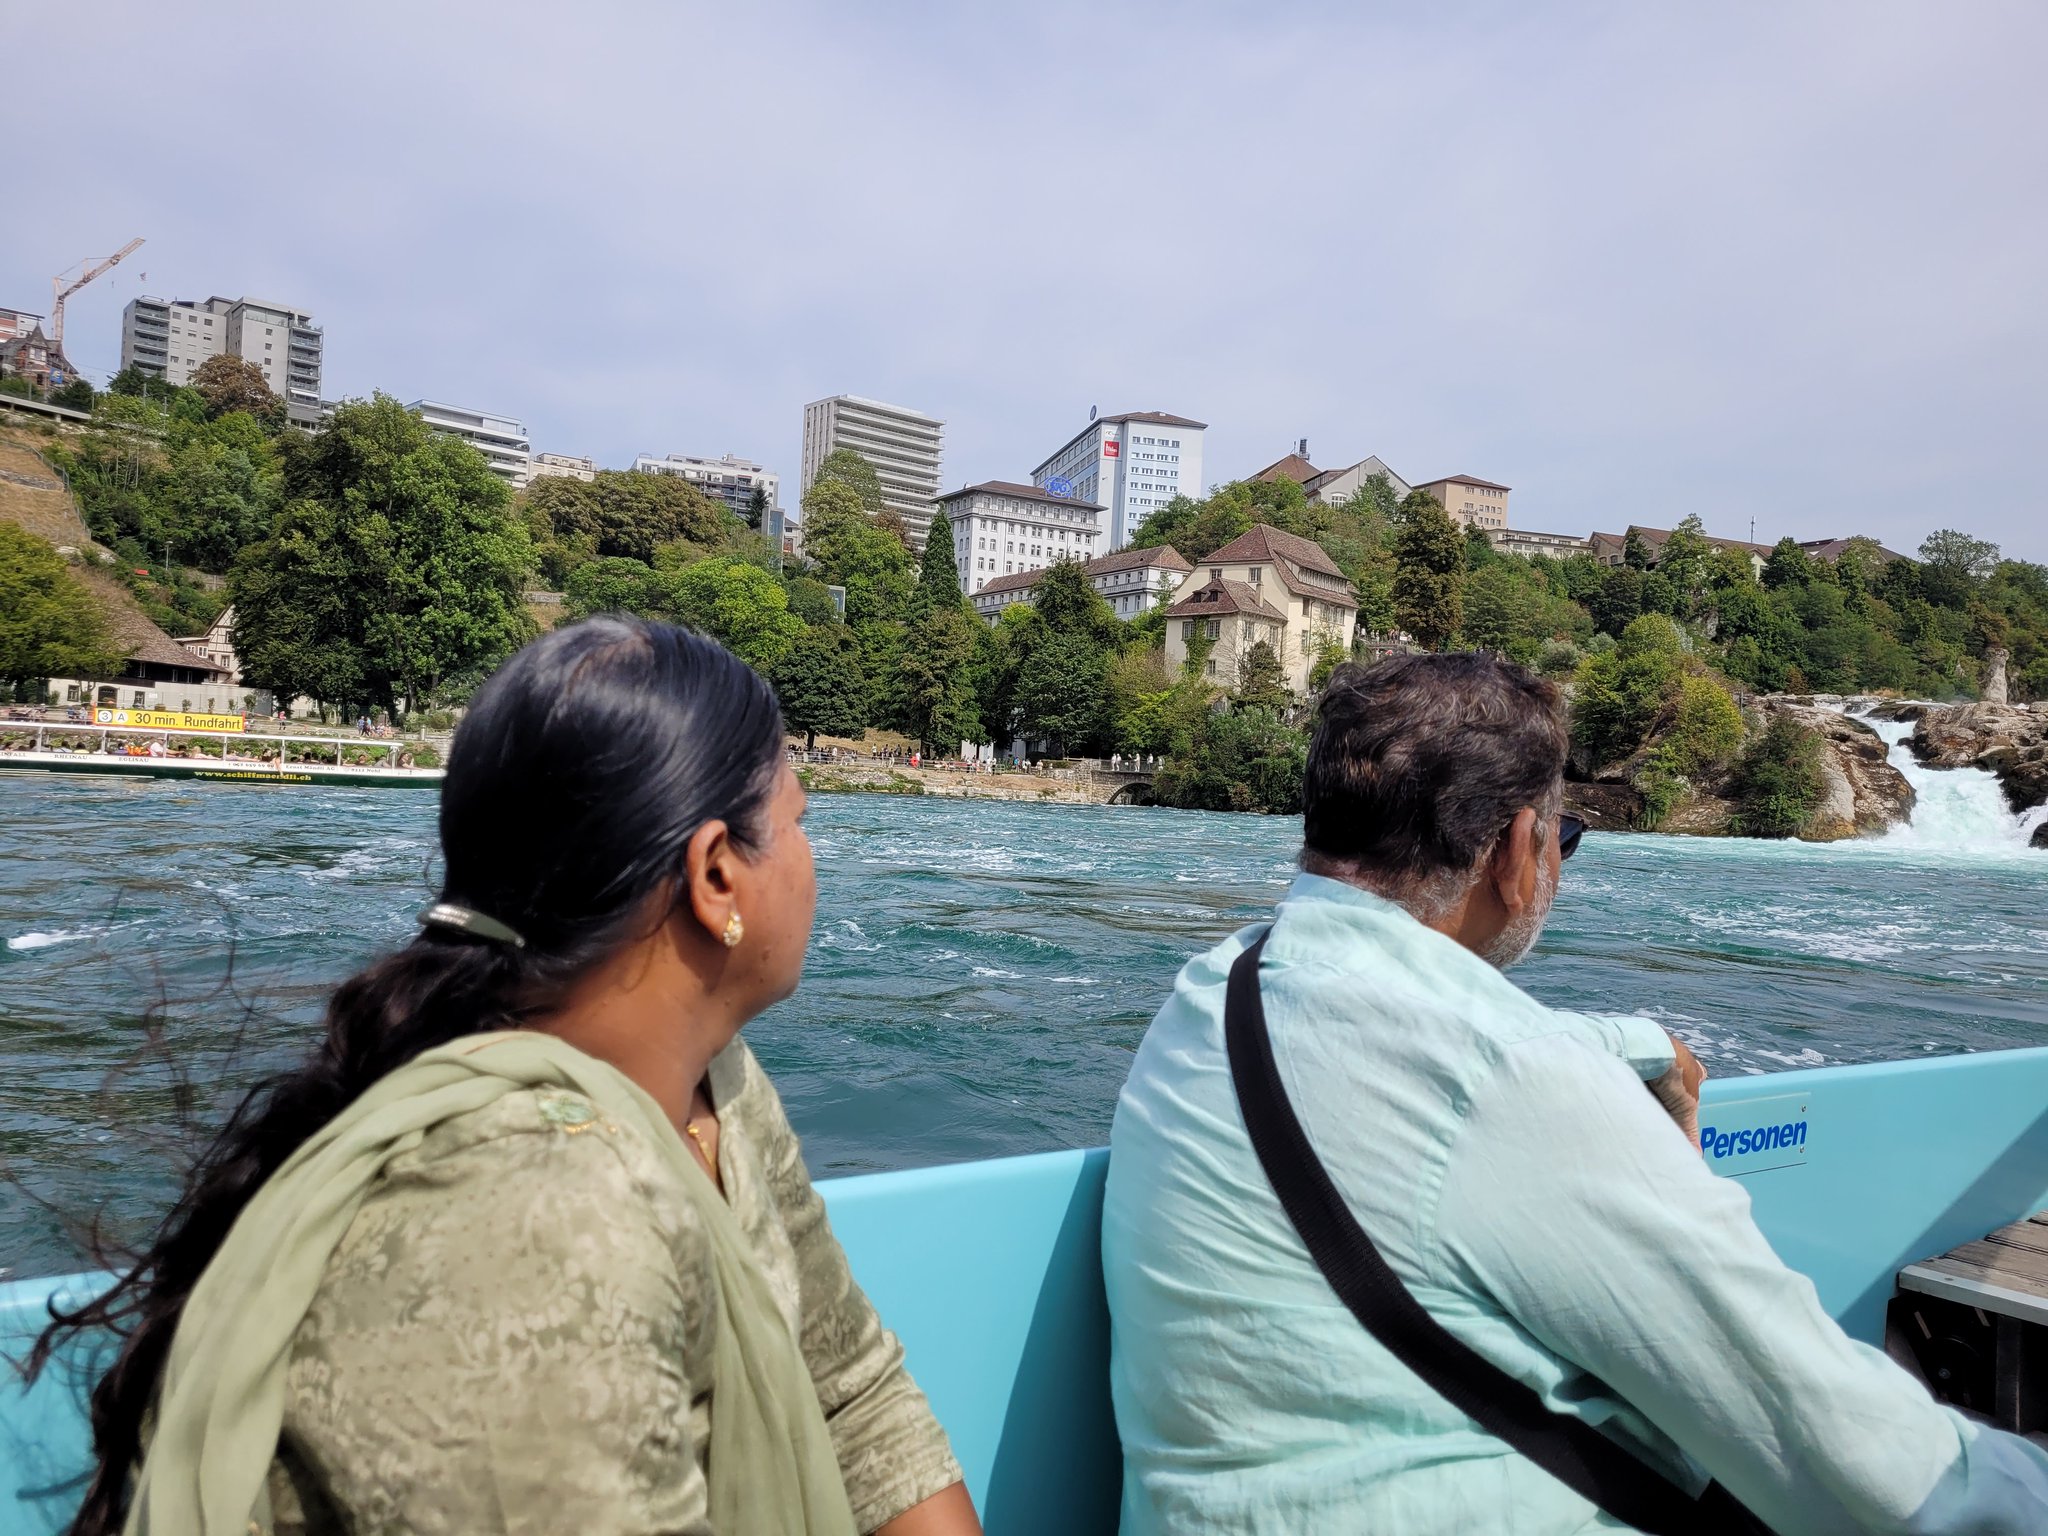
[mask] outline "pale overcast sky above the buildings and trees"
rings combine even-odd
[[[0,303],[147,238],[70,305],[100,377],[137,293],[248,293],[330,395],[784,502],[844,391],[940,416],[948,487],[1157,408],[1210,481],[1307,436],[1524,528],[2048,559],[2030,0],[6,12]]]

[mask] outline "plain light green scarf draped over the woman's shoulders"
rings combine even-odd
[[[268,1530],[291,1341],[362,1198],[436,1124],[524,1087],[584,1094],[637,1133],[676,1171],[711,1237],[713,1530],[852,1536],[817,1389],[731,1208],[659,1104],[614,1067],[537,1032],[471,1036],[410,1061],[256,1192],[178,1319],[127,1536],[248,1536],[252,1516]]]

